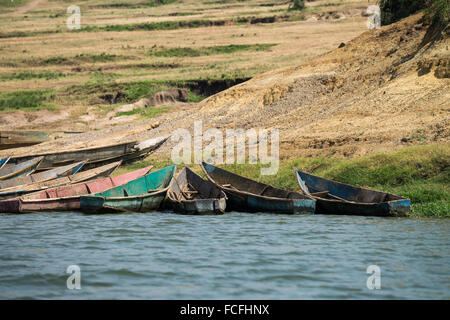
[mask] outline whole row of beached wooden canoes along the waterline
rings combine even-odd
[[[24,163],[34,166],[32,160],[43,161],[41,156]],[[0,190],[0,212],[92,214],[171,208],[184,214],[221,214],[227,210],[402,216],[410,207],[410,201],[403,197],[330,181],[295,168],[299,192],[278,189],[207,163],[201,165],[203,179],[186,167],[176,175],[175,165],[154,172],[150,166],[111,178],[121,161],[77,172],[87,162],[16,177],[9,184],[5,179],[1,183],[8,187]],[[25,168],[23,163],[16,166]],[[11,170],[8,172],[11,175]],[[17,179],[25,184],[13,183]]]

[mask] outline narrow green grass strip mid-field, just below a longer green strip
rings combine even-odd
[[[231,54],[240,51],[265,51],[276,45],[277,45],[276,43],[266,43],[266,44],[230,44],[224,46],[212,46],[202,48],[190,48],[190,47],[156,48],[149,51],[148,54],[154,57],[199,57],[216,54]]]

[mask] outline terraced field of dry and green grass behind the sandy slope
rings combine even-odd
[[[114,110],[171,88],[187,88],[184,103],[196,103],[366,30],[366,1],[315,1],[302,11],[289,3],[0,1],[0,128],[84,131],[130,121]],[[70,5],[80,8],[80,29],[67,27]]]

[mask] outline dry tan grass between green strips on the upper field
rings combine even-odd
[[[25,2],[23,2],[25,3]],[[337,5],[330,5],[336,3]],[[365,1],[317,1],[300,13],[305,19],[330,10],[342,20],[298,20],[278,1],[175,1],[151,7],[142,0],[81,1],[82,28],[166,21],[228,21],[224,26],[155,31],[74,32],[66,28],[68,1],[29,1],[7,8],[0,3],[1,92],[59,90],[82,85],[102,73],[114,82],[248,78],[267,70],[298,65],[354,38],[365,29],[361,11]],[[8,11],[1,11],[8,10]],[[14,10],[14,11],[11,11]],[[289,15],[294,15],[289,17]],[[239,18],[282,16],[274,23],[236,23]],[[320,17],[319,17],[320,18]],[[3,36],[3,38],[2,38]],[[16,37],[14,37],[16,36]],[[156,57],[161,48],[202,48],[230,45],[264,45],[264,50],[217,52],[206,56]],[[95,59],[102,54],[113,59]],[[79,57],[84,56],[84,59]],[[86,57],[94,57],[87,59]],[[64,61],[61,62],[61,59]],[[158,67],[163,66],[163,67]],[[164,67],[167,66],[167,67]],[[173,67],[175,66],[175,67]],[[64,74],[64,77],[29,77],[14,74]],[[56,95],[57,96],[57,95]],[[72,101],[58,99],[71,106]],[[91,106],[90,100],[84,106]]]

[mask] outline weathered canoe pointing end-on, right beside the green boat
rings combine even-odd
[[[222,189],[187,167],[178,173],[167,191],[169,207],[183,214],[223,214],[226,201]]]

